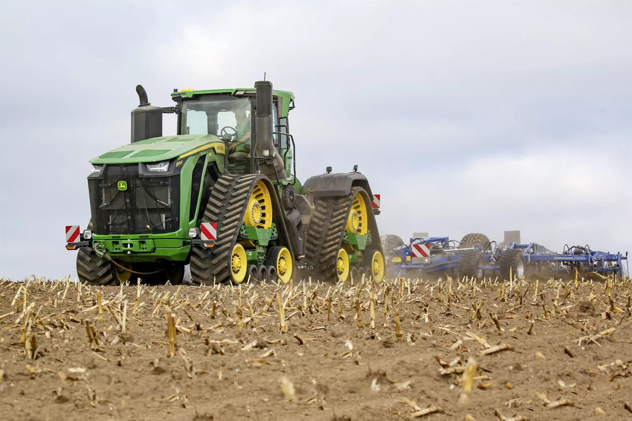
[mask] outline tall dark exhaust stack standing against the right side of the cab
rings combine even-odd
[[[255,157],[260,173],[272,179],[287,180],[283,159],[274,147],[272,131],[272,83],[255,82],[257,111],[255,113]]]

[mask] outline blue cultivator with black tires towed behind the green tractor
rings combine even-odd
[[[508,241],[507,233],[511,233],[514,239],[517,235],[518,241]],[[510,273],[522,278],[523,275],[542,276],[547,273],[551,276],[573,276],[576,271],[584,275],[629,276],[628,252],[609,253],[591,250],[588,245],[564,245],[562,253],[557,253],[538,243],[520,243],[519,237],[520,231],[506,231],[501,245],[485,237],[485,245],[475,247],[461,247],[459,241],[450,240],[447,236],[414,237],[408,245],[384,249],[387,272],[391,276],[404,277],[447,274],[459,278],[499,276],[506,279],[509,279]]]

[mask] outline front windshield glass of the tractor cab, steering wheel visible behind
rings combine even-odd
[[[213,95],[212,99],[183,101],[180,133],[216,135],[233,141],[250,135],[250,101],[231,95]]]

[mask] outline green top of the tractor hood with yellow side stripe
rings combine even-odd
[[[226,145],[215,135],[179,135],[155,137],[112,149],[90,160],[90,164],[134,164],[184,158],[203,150],[225,154]]]

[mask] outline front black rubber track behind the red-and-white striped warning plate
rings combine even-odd
[[[261,174],[223,175],[217,179],[210,193],[209,202],[204,210],[202,222],[217,223],[216,247],[210,250],[200,247],[191,248],[191,278],[194,283],[212,284],[228,283],[231,281],[229,267],[229,254],[233,250],[233,245],[237,241],[241,221],[246,212],[250,192],[258,180],[267,180]],[[269,181],[269,180],[267,180]],[[267,187],[270,187],[266,184]],[[270,190],[272,201],[272,212],[276,215],[274,221],[277,224],[279,238],[286,243],[292,253],[293,250],[288,243],[286,226],[281,217],[281,209],[278,198],[274,190]]]

